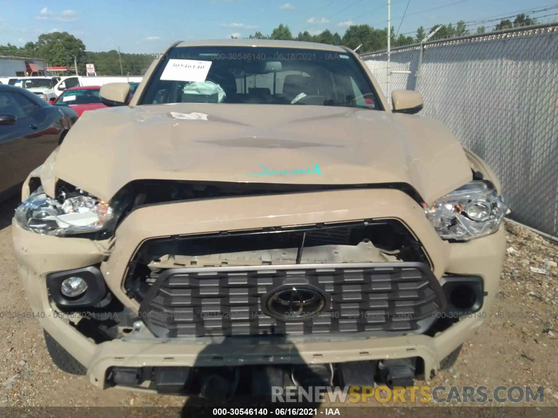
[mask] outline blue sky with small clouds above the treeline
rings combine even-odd
[[[475,21],[558,5],[558,0],[391,1],[396,30],[408,2],[400,33],[414,32],[421,25]],[[532,16],[552,14],[541,20],[558,20],[554,13],[558,9]],[[343,35],[353,23],[384,28],[386,18],[386,0],[4,0],[0,7],[0,45],[23,45],[36,41],[40,33],[60,30],[79,37],[88,51],[119,46],[122,52],[150,54],[177,40],[224,38],[233,33],[248,36],[258,30],[267,35],[280,23],[288,25],[294,35],[326,28]]]

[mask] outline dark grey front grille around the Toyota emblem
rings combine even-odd
[[[314,288],[322,312],[278,320],[262,298],[278,288]],[[150,286],[140,318],[158,337],[423,333],[445,297],[423,263],[327,263],[167,269]],[[267,311],[266,311],[267,312]]]

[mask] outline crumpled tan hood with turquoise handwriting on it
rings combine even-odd
[[[122,106],[84,113],[54,176],[110,200],[136,179],[292,184],[408,183],[432,202],[472,179],[440,122],[309,105]]]

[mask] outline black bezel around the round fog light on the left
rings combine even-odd
[[[75,298],[64,296],[61,291],[62,281],[76,276],[85,280],[87,289]],[[61,308],[93,307],[107,295],[107,284],[97,266],[51,273],[46,276],[46,288],[52,302]]]

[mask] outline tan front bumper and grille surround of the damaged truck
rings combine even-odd
[[[416,202],[393,190],[307,193],[288,199],[285,196],[230,198],[225,215],[223,207],[205,200],[142,208],[122,222],[110,247],[107,242],[37,235],[13,222],[15,253],[31,309],[45,313],[39,315],[42,327],[84,364],[93,385],[104,388],[107,370],[113,366],[311,364],[408,357],[422,358],[428,377],[438,370],[442,359],[476,332],[490,313],[505,254],[503,226],[493,235],[449,244],[439,239]],[[432,337],[359,339],[347,334],[330,341],[309,342],[301,338],[273,344],[264,338],[129,337],[95,344],[56,313],[47,294],[47,274],[100,264],[112,294],[127,308],[138,312],[139,304],[123,288],[123,277],[137,247],[147,239],[363,218],[397,218],[405,222],[424,245],[439,280],[448,273],[482,277],[485,291],[482,309]]]

